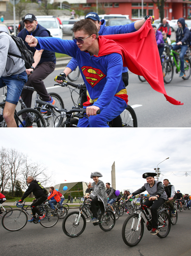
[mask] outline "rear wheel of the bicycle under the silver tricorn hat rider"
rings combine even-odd
[[[115,226],[115,214],[111,210],[106,210],[103,214],[99,216],[99,226],[101,230],[107,232],[114,228]]]

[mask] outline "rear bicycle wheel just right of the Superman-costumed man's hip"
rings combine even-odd
[[[130,105],[127,105],[120,116],[122,118],[123,127],[137,127],[137,116]]]

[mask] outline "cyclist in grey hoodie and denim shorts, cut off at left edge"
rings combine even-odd
[[[7,127],[17,127],[14,113],[22,88],[27,81],[24,60],[9,53],[21,56],[13,39],[5,32],[0,33],[0,88],[7,86],[7,98],[3,116]]]

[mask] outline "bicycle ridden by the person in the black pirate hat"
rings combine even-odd
[[[143,199],[144,196],[141,196],[140,199],[140,207],[139,212],[134,212],[131,214],[127,219],[125,220],[123,227],[122,227],[122,238],[126,245],[132,247],[137,245],[142,237],[144,232],[144,219],[142,217],[142,214],[144,214],[145,219],[148,221],[147,229],[150,231],[152,229],[152,217],[150,214],[146,214],[144,208],[150,209],[148,206],[143,206]],[[166,237],[171,228],[171,219],[169,217],[169,214],[167,214],[166,211],[160,210],[158,212],[158,229],[159,232],[156,234],[160,238]]]

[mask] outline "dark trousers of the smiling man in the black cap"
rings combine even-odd
[[[56,64],[52,61],[43,62],[35,68],[32,74],[28,76],[26,86],[33,87],[40,95],[43,101],[50,101],[50,95],[48,94],[43,80],[48,77],[55,69]],[[21,98],[24,101],[26,107],[31,107],[33,91],[23,89]]]

